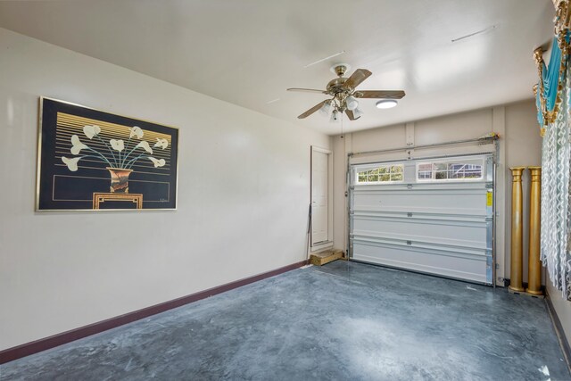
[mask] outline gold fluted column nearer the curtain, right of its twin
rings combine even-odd
[[[542,293],[542,263],[539,259],[540,200],[542,192],[542,167],[529,167],[531,191],[529,194],[529,272],[525,292]]]

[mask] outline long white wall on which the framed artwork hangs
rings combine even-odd
[[[38,96],[180,128],[178,211],[34,212]],[[0,350],[306,257],[329,137],[0,29]]]

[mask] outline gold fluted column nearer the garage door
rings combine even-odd
[[[511,184],[511,266],[509,276],[509,289],[512,291],[522,292],[524,261],[523,252],[523,200],[521,188],[521,174],[525,167],[512,167],[511,175],[513,177]]]

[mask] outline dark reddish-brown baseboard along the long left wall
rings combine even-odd
[[[185,304],[208,298],[209,296],[221,294],[241,286],[246,286],[251,283],[257,282],[259,280],[265,279],[267,277],[275,277],[287,271],[291,271],[293,269],[299,269],[308,263],[309,261],[307,260],[299,261],[279,269],[274,269],[268,272],[264,272],[262,274],[254,275],[252,277],[245,277],[244,279],[239,279],[234,282],[227,283],[226,285],[212,287],[208,290],[200,291],[196,294],[182,296],[178,299],[174,299],[169,302],[162,302],[150,307],[146,307],[141,310],[128,312],[124,315],[120,315],[115,318],[98,321],[96,323],[84,327],[79,327],[71,329],[70,331],[62,332],[61,334],[52,335],[30,343],[21,344],[12,348],[4,349],[3,351],[0,351],[0,364],[4,364],[12,360],[21,359],[22,357],[26,357],[29,356],[30,354],[34,354],[37,352],[46,351],[46,349],[54,348],[62,344],[67,344],[90,335],[95,335],[103,331],[106,331],[108,329],[120,327],[125,324],[131,323],[133,321],[145,319],[150,316],[156,315],[157,313],[169,311],[174,308],[183,306]]]

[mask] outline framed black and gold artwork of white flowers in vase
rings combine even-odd
[[[40,98],[37,211],[177,208],[178,128]]]

